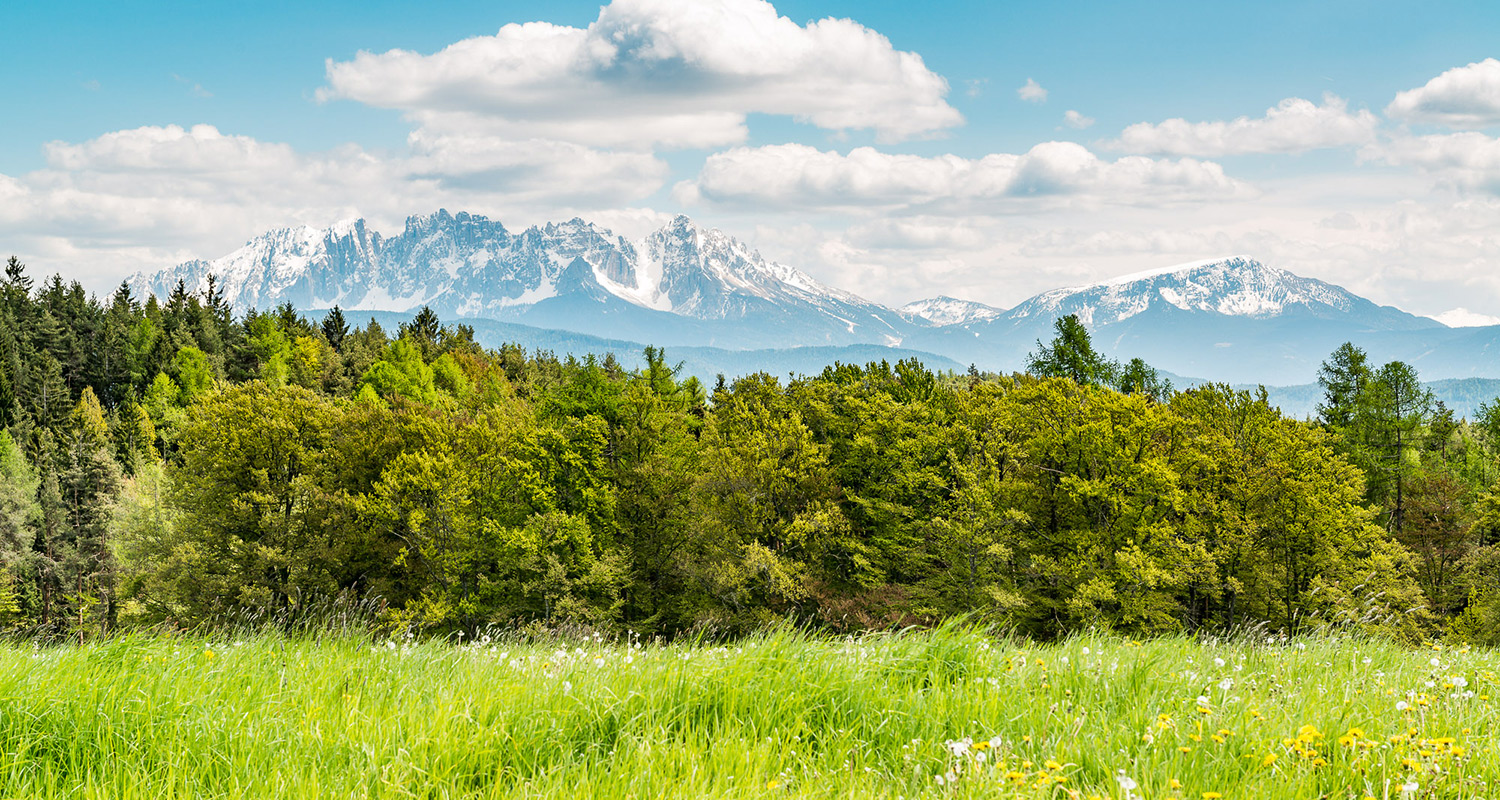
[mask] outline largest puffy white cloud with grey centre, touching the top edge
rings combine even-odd
[[[963,122],[921,56],[852,20],[798,26],[764,0],[614,0],[586,29],[508,24],[434,54],[327,63],[318,96],[405,111],[435,132],[600,147],[711,147],[752,113],[882,141]]]

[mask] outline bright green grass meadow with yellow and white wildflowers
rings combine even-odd
[[[3,797],[1500,797],[1496,654],[976,632],[0,648]]]

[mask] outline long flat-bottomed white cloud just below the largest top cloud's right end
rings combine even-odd
[[[892,155],[872,147],[840,155],[777,144],[710,156],[696,179],[675,188],[675,197],[729,206],[898,209],[1048,197],[1134,204],[1224,197],[1242,189],[1214,162],[1140,156],[1102,161],[1066,141],[982,159]]]

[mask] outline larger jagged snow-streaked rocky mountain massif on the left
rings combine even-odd
[[[660,332],[663,344],[714,339],[688,321],[762,323],[741,344],[897,344],[900,315],[760,257],[736,239],[678,216],[644,240],[570,219],[510,233],[477,215],[406,219],[382,239],[364,221],[282,228],[213,261],[130,279],[138,293],[189,291],[216,276],[236,309],[416,311],[518,320],[585,333]],[[604,311],[608,318],[588,318]],[[597,314],[596,314],[597,315]],[[681,330],[674,335],[672,324]],[[624,329],[624,330],[621,330]]]

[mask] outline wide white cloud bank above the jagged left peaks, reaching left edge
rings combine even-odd
[[[62,254],[72,269],[124,272],[218,255],[288,224],[366,216],[390,227],[453,206],[549,215],[609,209],[662,186],[666,164],[555,141],[412,137],[411,150],[306,153],[208,125],[116,131],[50,143],[46,165],[0,174],[0,234]],[[134,254],[134,255],[132,255]]]

